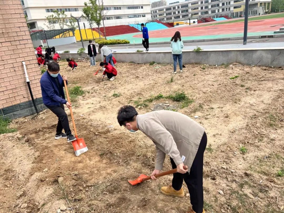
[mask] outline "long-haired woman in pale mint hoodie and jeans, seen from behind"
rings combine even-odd
[[[174,59],[174,71],[173,73],[176,74],[177,70],[177,61],[179,63],[179,72],[182,73],[182,51],[183,43],[181,40],[180,32],[176,31],[175,35],[171,39],[171,48],[172,48],[172,54]]]

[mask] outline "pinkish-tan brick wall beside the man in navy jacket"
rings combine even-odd
[[[22,61],[34,98],[41,98],[41,73],[22,5],[19,0],[0,0],[0,110],[31,100]]]

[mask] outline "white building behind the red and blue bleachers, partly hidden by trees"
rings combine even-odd
[[[20,2],[30,30],[47,28],[46,25],[48,25],[48,22],[46,16],[53,14],[55,10],[65,11],[67,15],[65,22],[68,22],[71,14],[75,17],[83,15],[84,1],[80,0],[49,0],[44,3],[38,0],[21,0]],[[151,19],[151,5],[149,0],[104,0],[103,3],[105,26],[134,24],[135,22],[141,23]],[[85,26],[89,27],[87,20],[82,18],[80,20],[81,28],[83,28],[83,22]],[[57,21],[55,22],[55,29],[60,29]]]

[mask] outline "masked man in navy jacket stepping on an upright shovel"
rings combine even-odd
[[[58,117],[55,139],[67,138],[67,141],[71,142],[76,140],[76,138],[71,133],[68,117],[63,105],[66,104],[68,109],[71,107],[71,104],[65,100],[63,91],[63,80],[66,80],[66,84],[68,82],[67,77],[64,75],[61,76],[59,71],[59,64],[50,60],[47,65],[47,71],[43,73],[40,79],[42,100],[43,104]],[[65,134],[62,133],[62,129],[64,129]]]

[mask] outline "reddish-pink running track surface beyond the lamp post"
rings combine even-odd
[[[277,25],[277,26],[275,26]],[[281,25],[281,26],[280,26]],[[265,32],[279,30],[284,25],[284,18],[271,18],[249,21],[248,32]],[[218,24],[210,26],[192,25],[179,28],[168,28],[166,30],[155,30],[149,32],[150,38],[168,38],[172,37],[176,31],[181,33],[181,36],[207,36],[220,34],[234,34],[244,32],[244,22]],[[142,34],[134,35],[135,38],[142,38]]]

